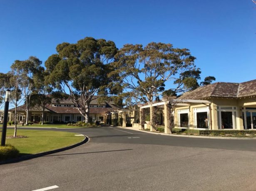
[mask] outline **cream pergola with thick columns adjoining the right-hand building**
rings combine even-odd
[[[185,99],[173,99],[171,101],[162,101],[162,102],[159,102],[159,103],[150,103],[148,105],[139,105],[140,107],[140,114],[142,114],[142,109],[145,109],[145,108],[150,108],[150,122],[152,122],[152,113],[153,113],[153,107],[157,107],[157,106],[164,106],[164,133],[171,133],[170,129],[169,129],[169,126],[170,126],[170,122],[169,122],[169,119],[167,118],[167,116],[169,115],[169,109],[167,107],[167,104],[170,104],[170,103],[175,103],[175,105],[177,106],[190,106],[191,103],[202,103],[204,105],[206,104],[209,104],[209,105],[206,105],[206,106],[209,106],[209,108],[211,109],[211,102],[208,101],[208,100],[185,100]],[[210,112],[211,113],[211,112]],[[211,117],[210,117],[211,118]],[[140,121],[142,121],[142,115],[140,115]],[[140,129],[143,129],[142,125],[140,125]],[[150,125],[150,131],[155,131],[152,126]]]

